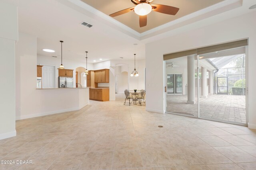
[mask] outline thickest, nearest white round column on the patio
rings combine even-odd
[[[188,59],[188,104],[195,104],[195,57],[190,55]]]

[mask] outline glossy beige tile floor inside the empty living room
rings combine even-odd
[[[256,131],[91,101],[71,111],[16,122],[0,140],[0,170],[255,170]],[[158,125],[164,126],[159,128]]]

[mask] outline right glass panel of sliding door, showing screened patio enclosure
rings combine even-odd
[[[199,56],[199,64],[207,66],[209,72],[207,96],[200,95],[200,118],[246,124],[246,56],[240,51],[234,55],[236,50]]]

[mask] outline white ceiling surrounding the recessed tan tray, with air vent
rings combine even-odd
[[[80,0],[6,0],[18,6],[19,31],[38,37],[38,55],[60,57],[60,40],[63,40],[63,58],[84,62],[88,51],[88,62],[95,63],[110,59],[145,59],[145,44],[170,36],[172,33],[191,29],[190,23],[218,14],[215,18],[204,20],[204,24],[232,18],[248,11],[248,6],[256,0],[225,0],[218,6],[210,6],[188,16],[156,27],[144,33],[138,33],[130,27],[114,20],[110,16],[88,6]],[[245,5],[244,5],[245,4]],[[234,9],[235,10],[231,10]],[[223,15],[220,14],[224,11]],[[252,11],[252,10],[251,10]],[[222,17],[218,17],[221,16]],[[88,28],[80,25],[82,21],[90,23]],[[191,25],[191,24],[190,24]],[[199,24],[198,26],[202,26]],[[178,29],[182,27],[182,29]],[[134,45],[134,43],[138,45]],[[53,49],[47,53],[42,49]]]

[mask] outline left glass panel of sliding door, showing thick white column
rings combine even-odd
[[[166,112],[198,117],[197,79],[195,78],[197,60],[195,57],[194,55],[166,60]],[[188,64],[192,65],[189,71]],[[190,75],[189,78],[188,75]]]

